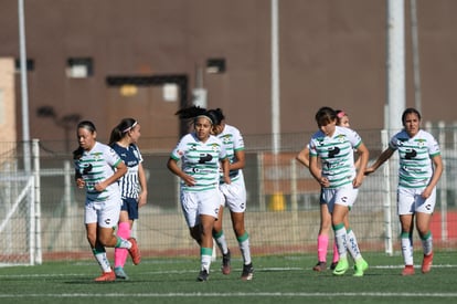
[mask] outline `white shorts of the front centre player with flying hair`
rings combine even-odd
[[[200,223],[200,216],[211,216],[217,219],[221,195],[219,189],[202,192],[181,191],[181,208],[188,227]]]

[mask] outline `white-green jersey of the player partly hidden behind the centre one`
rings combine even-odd
[[[244,140],[241,132],[231,125],[225,125],[224,130],[217,135],[217,138],[221,139],[222,145],[224,145],[225,151],[227,154],[227,158],[230,164],[236,163],[236,153],[244,150]],[[241,175],[241,170],[231,170],[230,171],[230,179],[232,181],[237,180]],[[223,176],[221,175],[221,184],[224,182]]]

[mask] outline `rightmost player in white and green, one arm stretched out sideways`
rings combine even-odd
[[[432,269],[431,221],[436,202],[436,185],[443,174],[443,160],[436,139],[421,129],[421,113],[417,109],[406,108],[402,123],[403,130],[391,138],[389,147],[366,168],[365,174],[374,172],[398,150],[397,212],[402,224],[402,254],[405,264],[402,275],[412,275],[414,217],[424,250],[422,272],[427,273]]]

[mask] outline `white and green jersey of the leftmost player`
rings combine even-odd
[[[89,151],[84,151],[79,159],[75,159],[75,170],[85,181],[87,200],[105,201],[111,196],[119,196],[117,182],[110,184],[102,192],[95,190],[95,185],[109,178],[120,161],[114,149],[98,141]]]

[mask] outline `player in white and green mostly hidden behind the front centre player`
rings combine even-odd
[[[244,140],[240,130],[225,124],[225,116],[222,109],[210,109],[209,114],[213,117],[213,133],[217,136],[225,147],[230,159],[231,184],[225,184],[221,178],[220,190],[222,195],[219,219],[214,223],[213,238],[222,252],[222,273],[231,272],[231,253],[222,229],[222,216],[224,206],[228,207],[232,218],[232,227],[238,241],[240,251],[243,255],[242,280],[252,280],[254,266],[251,260],[249,235],[244,228],[244,212],[246,211],[246,187],[244,185],[243,168],[245,165]]]

